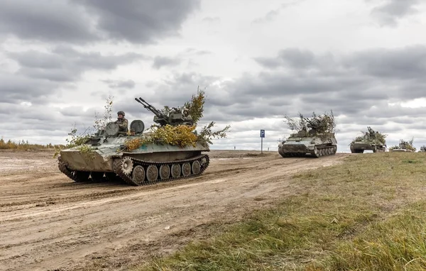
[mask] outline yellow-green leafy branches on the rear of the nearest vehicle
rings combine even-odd
[[[187,146],[194,146],[200,143],[204,146],[212,144],[213,138],[226,138],[226,131],[229,131],[231,126],[226,126],[220,131],[212,131],[215,122],[212,121],[202,128],[200,133],[197,134],[195,129],[197,128],[197,122],[202,118],[205,103],[205,92],[197,89],[197,94],[192,95],[190,101],[187,101],[184,106],[180,106],[178,109],[181,110],[183,107],[188,109],[194,126],[178,125],[178,126],[158,126],[153,124],[148,128],[147,132],[139,138],[133,138],[126,140],[125,148],[128,151],[136,150],[142,145],[146,144],[163,144],[163,145],[177,145],[180,148]],[[169,106],[164,106],[161,110],[163,114],[168,116],[172,109]]]

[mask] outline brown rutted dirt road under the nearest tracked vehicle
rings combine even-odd
[[[0,270],[120,270],[291,194],[290,176],[349,154],[212,151],[200,177],[143,187],[75,183],[51,152],[0,152]]]

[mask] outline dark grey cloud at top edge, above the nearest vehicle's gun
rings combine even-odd
[[[87,11],[97,17],[97,29],[114,40],[152,43],[158,38],[178,35],[181,24],[199,0],[82,0]]]

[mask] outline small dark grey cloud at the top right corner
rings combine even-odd
[[[415,6],[419,3],[419,0],[387,0],[380,6],[374,7],[371,15],[381,26],[395,27],[399,19],[417,13]]]

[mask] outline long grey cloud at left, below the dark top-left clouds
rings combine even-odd
[[[9,52],[9,57],[21,65],[18,74],[27,77],[72,82],[87,70],[114,70],[119,65],[146,59],[133,52],[122,55],[101,55],[99,52],[79,52],[69,47],[57,47],[52,52],[29,50]]]

